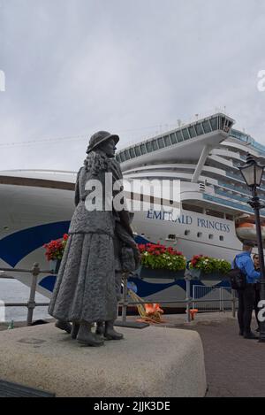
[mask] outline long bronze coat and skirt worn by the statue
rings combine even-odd
[[[73,322],[108,321],[117,318],[114,237],[117,215],[113,211],[87,211],[86,183],[98,179],[104,190],[104,173],[116,162],[101,151],[87,156],[78,173],[75,204],[64,257],[49,305],[56,319]]]

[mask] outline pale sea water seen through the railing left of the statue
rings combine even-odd
[[[22,284],[18,280],[0,279],[0,302],[2,303],[27,303],[29,298],[30,288]],[[49,303],[49,298],[36,293],[36,303]],[[51,319],[48,314],[48,306],[35,307],[33,321],[37,319]],[[1,313],[3,322],[3,312]],[[4,308],[5,322],[26,321],[27,307],[5,307]]]

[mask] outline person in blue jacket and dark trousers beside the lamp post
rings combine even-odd
[[[239,289],[239,335],[245,339],[257,339],[258,337],[251,331],[252,312],[255,301],[255,283],[261,279],[261,273],[255,271],[251,252],[254,247],[253,241],[243,242],[243,252],[235,257],[236,265],[246,275],[246,288]],[[233,267],[233,263],[232,263]]]

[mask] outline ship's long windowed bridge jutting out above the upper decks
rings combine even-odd
[[[234,122],[234,119],[227,115],[217,113],[127,147],[117,152],[117,161],[121,163],[123,171],[130,167],[161,161],[165,163],[178,159],[197,161],[203,149],[216,147],[229,136]]]

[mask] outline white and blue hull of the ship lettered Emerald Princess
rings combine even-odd
[[[37,290],[44,296],[51,296],[56,277],[49,273],[49,262],[44,256],[43,244],[67,233],[72,212],[73,192],[63,189],[34,188],[27,186],[1,185],[0,197],[0,267],[31,269],[38,263],[42,273],[38,277]],[[223,257],[231,260],[240,250],[234,224],[224,219],[203,222],[204,216],[180,211],[177,220],[168,220],[161,211],[136,212],[133,230],[138,242],[158,242],[176,245],[187,259],[195,254]],[[203,227],[201,226],[203,225]],[[222,231],[215,232],[208,227],[216,226]],[[188,234],[185,235],[185,232]],[[201,233],[201,238],[194,237]],[[208,234],[215,240],[208,240]],[[175,234],[174,241],[168,236]],[[218,236],[224,238],[220,242]],[[31,273],[6,273],[27,286],[31,284]],[[186,297],[184,281],[137,281],[133,280],[138,295],[154,301],[182,300]],[[181,305],[181,304],[179,304]]]

